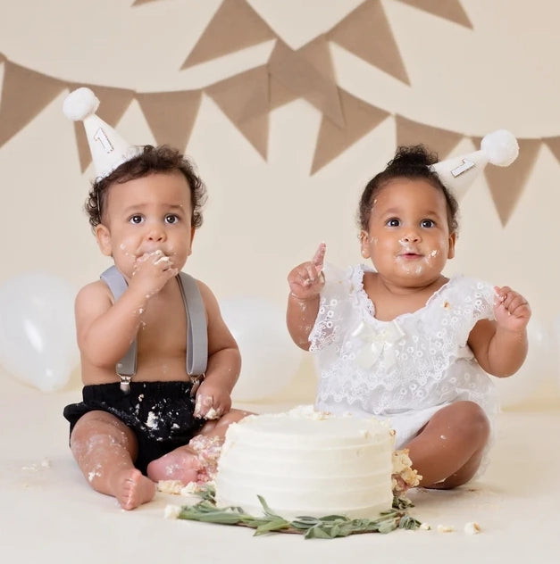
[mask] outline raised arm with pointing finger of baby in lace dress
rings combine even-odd
[[[312,261],[303,262],[288,274],[288,332],[298,347],[309,350],[309,335],[319,312],[319,295],[325,278],[322,274],[327,247],[319,245]]]

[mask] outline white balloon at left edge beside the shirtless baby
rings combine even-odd
[[[79,362],[75,292],[43,272],[9,278],[0,286],[0,364],[43,392],[62,388]]]

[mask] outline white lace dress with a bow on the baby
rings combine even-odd
[[[309,336],[320,371],[317,409],[390,419],[397,449],[452,402],[478,403],[491,422],[497,394],[467,339],[479,319],[494,318],[493,287],[457,276],[422,309],[380,321],[364,291],[365,271],[372,269],[325,267]]]

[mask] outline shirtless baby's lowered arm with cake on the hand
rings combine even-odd
[[[197,284],[208,321],[208,367],[205,380],[196,392],[195,415],[217,419],[230,411],[231,391],[238,381],[241,355],[230,329],[221,318],[220,306],[212,291],[202,282]]]

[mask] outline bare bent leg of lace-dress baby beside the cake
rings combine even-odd
[[[447,489],[468,482],[481,464],[489,420],[474,402],[439,410],[405,448],[422,487]]]

